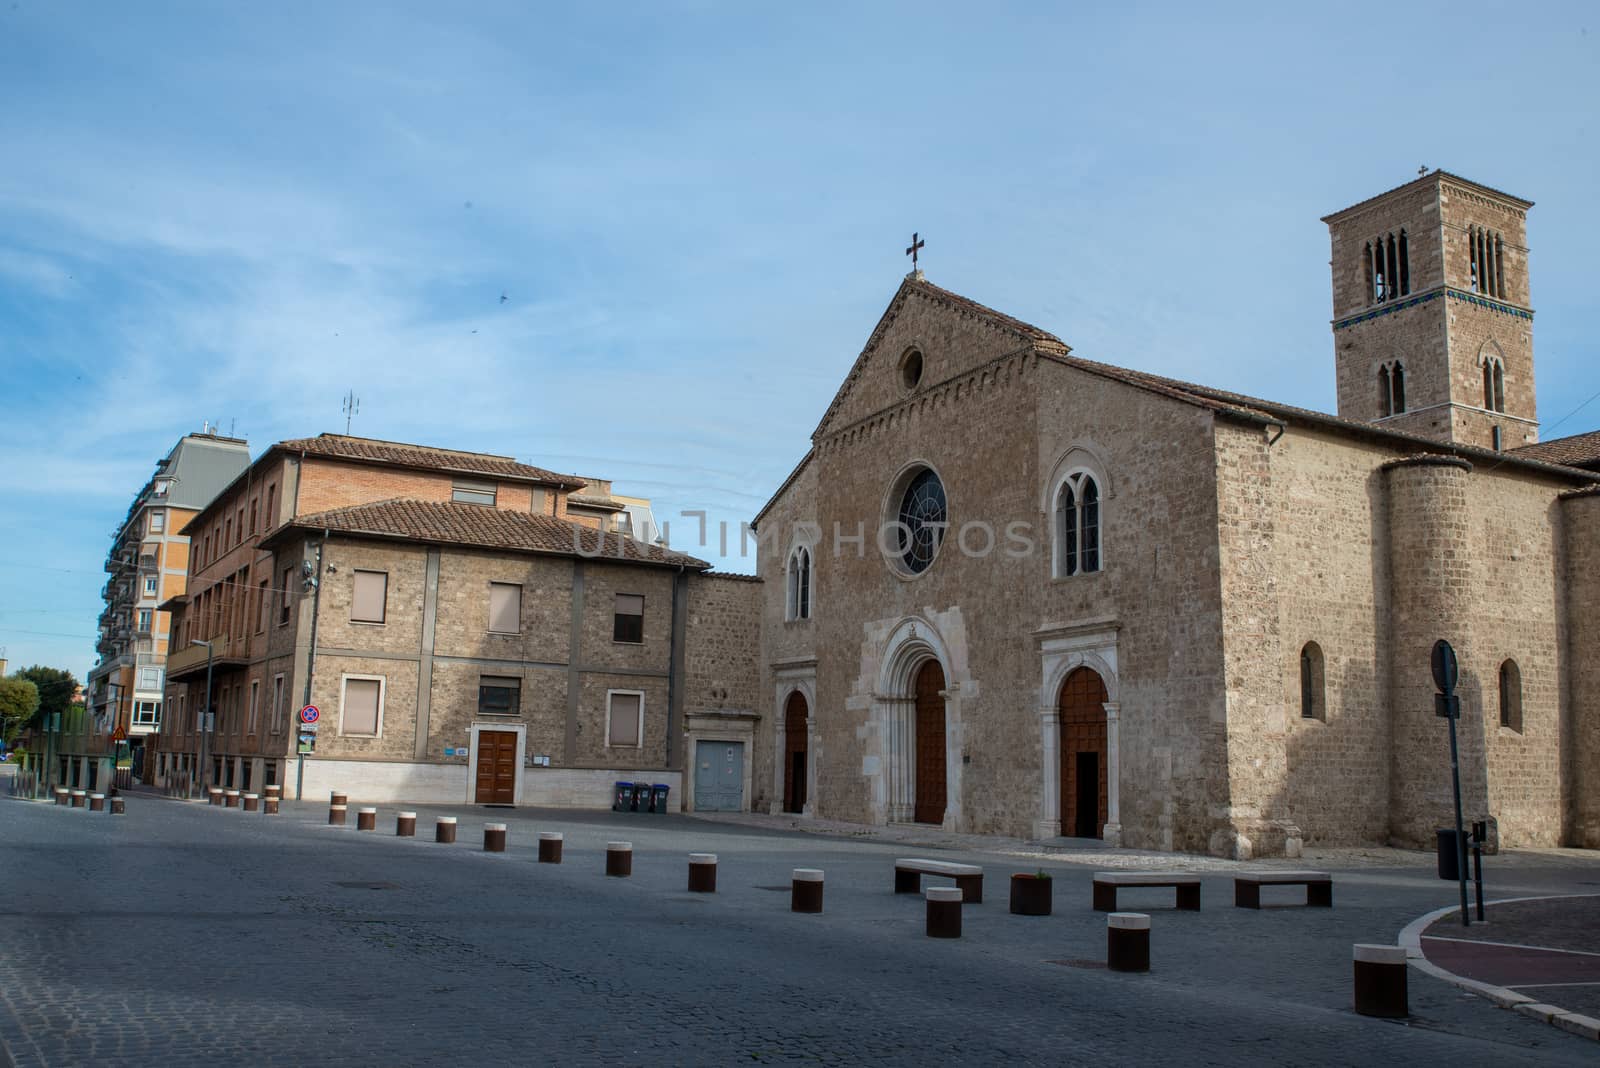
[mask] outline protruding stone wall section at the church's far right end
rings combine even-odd
[[[1568,780],[1566,843],[1600,849],[1600,491],[1562,500],[1566,545]]]

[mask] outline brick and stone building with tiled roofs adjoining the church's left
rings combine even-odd
[[[158,777],[578,806],[642,777],[682,796],[691,713],[754,735],[757,592],[619,534],[595,507],[610,488],[587,489],[506,456],[274,444],[194,524]],[[718,600],[746,619],[696,612]]]

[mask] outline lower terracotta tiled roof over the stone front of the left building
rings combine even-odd
[[[478,504],[413,500],[402,497],[333,508],[294,518],[290,528],[339,531],[438,545],[470,545],[558,556],[592,556],[643,564],[710,568],[704,560],[675,553],[659,545],[637,542],[622,534],[598,531],[530,512],[509,512]]]

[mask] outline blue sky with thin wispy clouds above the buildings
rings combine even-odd
[[[912,230],[1078,355],[1331,409],[1318,217],[1442,166],[1538,201],[1544,433],[1600,427],[1600,19],[1294,6],[0,0],[3,656],[90,668],[179,435],[352,387],[747,520]]]

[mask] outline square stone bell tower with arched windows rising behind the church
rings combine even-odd
[[[1432,171],[1323,217],[1341,417],[1486,449],[1539,440],[1531,206]]]

